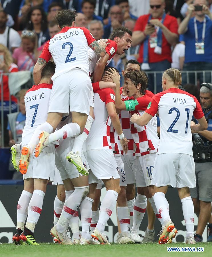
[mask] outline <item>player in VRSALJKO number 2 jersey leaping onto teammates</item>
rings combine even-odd
[[[103,57],[106,51],[92,37],[88,29],[74,27],[75,17],[76,13],[70,10],[62,10],[57,13],[55,18],[61,31],[45,44],[33,70],[34,81],[37,84],[41,79],[42,69],[53,57],[56,69],[52,78],[54,85],[49,101],[47,121],[37,128],[28,146],[23,149],[20,170],[27,170],[29,156],[37,145],[41,132],[44,131],[39,136],[40,142],[36,148],[36,157],[43,148],[55,140],[76,136],[84,130],[89,115],[92,90],[88,76],[87,46],[90,46],[98,56]],[[72,123],[66,124],[57,132],[52,133],[64,113],[69,113],[69,107],[72,112]],[[70,158],[79,172],[88,174],[80,156],[72,153]]]

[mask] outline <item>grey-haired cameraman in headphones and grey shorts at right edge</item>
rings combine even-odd
[[[207,130],[192,131],[193,157],[195,161],[196,188],[190,188],[194,211],[199,216],[196,242],[202,242],[207,222],[211,222],[212,201],[212,84],[202,83],[200,101],[208,123]],[[209,228],[212,224],[209,223]]]

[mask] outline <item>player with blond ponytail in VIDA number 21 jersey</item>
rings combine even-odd
[[[174,236],[175,227],[169,216],[169,204],[165,198],[168,185],[178,189],[187,231],[186,243],[195,244],[194,207],[189,188],[195,187],[196,181],[189,125],[192,115],[199,122],[197,125],[191,124],[193,130],[207,129],[207,121],[197,99],[178,88],[181,82],[179,70],[167,69],[162,76],[164,91],[154,95],[148,109],[141,117],[136,113],[131,117],[131,122],[146,126],[156,112],[159,113],[160,144],[152,174],[155,204],[165,225],[159,237],[159,244],[166,243]]]

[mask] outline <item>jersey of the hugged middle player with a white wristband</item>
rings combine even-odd
[[[110,144],[110,117],[107,103],[115,104],[114,91],[110,88],[99,89],[99,82],[92,83],[94,90],[94,122],[86,139],[86,151],[91,149],[112,149]]]

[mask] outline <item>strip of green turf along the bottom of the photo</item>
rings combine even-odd
[[[167,252],[167,247],[204,247],[204,252]],[[187,244],[134,244],[134,245],[58,245],[39,246],[14,244],[0,245],[1,257],[163,257],[163,256],[204,256],[212,257],[212,243]]]

